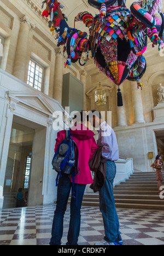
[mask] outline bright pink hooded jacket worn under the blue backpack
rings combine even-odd
[[[94,133],[89,130],[83,124],[77,124],[77,126],[72,127],[71,135],[73,135],[73,140],[77,143],[79,149],[79,175],[78,182],[77,176],[75,176],[75,183],[78,184],[91,184],[93,183],[89,161],[93,158],[97,147]],[[63,139],[65,139],[65,130],[57,133],[56,144],[55,144],[55,153]],[[72,181],[72,179],[71,179]]]

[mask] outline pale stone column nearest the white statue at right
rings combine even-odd
[[[133,109],[134,109],[134,124],[145,123],[141,89],[139,88],[139,90],[137,90],[136,82],[131,82],[131,90],[132,90],[132,102],[133,102]]]

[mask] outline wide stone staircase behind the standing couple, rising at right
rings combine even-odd
[[[155,172],[134,172],[125,182],[115,185],[114,198],[117,208],[164,210]],[[83,206],[99,206],[98,193],[84,195]]]

